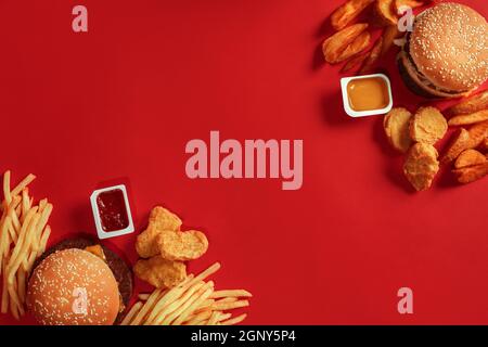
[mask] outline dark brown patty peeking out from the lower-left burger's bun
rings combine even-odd
[[[64,249],[78,248],[85,249],[89,246],[100,245],[103,249],[103,253],[106,258],[106,264],[108,268],[111,268],[114,273],[115,280],[118,284],[118,292],[120,293],[124,306],[127,308],[132,296],[133,290],[133,281],[132,281],[132,271],[127,266],[127,264],[114,252],[108,249],[107,247],[90,240],[88,237],[77,237],[77,239],[67,239],[64,240],[54,246],[47,249],[34,264],[34,269],[49,255]],[[34,271],[33,271],[34,272]],[[119,322],[123,318],[124,311],[117,316],[115,323]]]

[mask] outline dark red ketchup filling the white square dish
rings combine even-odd
[[[97,197],[100,220],[104,231],[115,231],[129,227],[124,192],[119,189],[102,192]]]

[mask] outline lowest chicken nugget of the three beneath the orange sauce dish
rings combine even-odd
[[[428,189],[439,170],[438,153],[428,143],[418,142],[409,150],[403,174],[416,191]]]

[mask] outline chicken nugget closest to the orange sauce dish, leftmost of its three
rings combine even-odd
[[[412,144],[410,138],[409,124],[412,114],[402,107],[393,108],[383,120],[383,128],[391,146],[401,152],[407,153]]]

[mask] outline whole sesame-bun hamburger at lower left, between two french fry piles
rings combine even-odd
[[[132,273],[124,260],[89,239],[70,239],[35,265],[27,308],[43,325],[112,325],[131,294]]]

